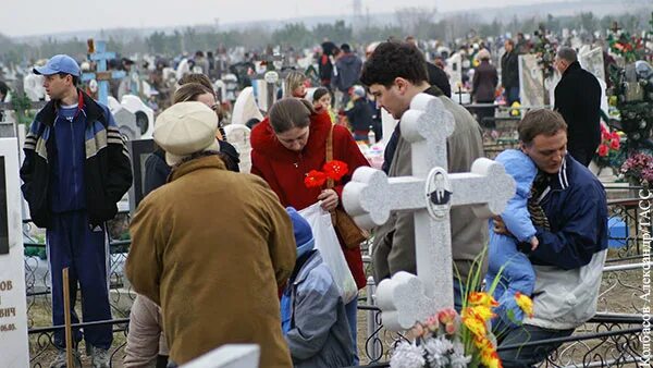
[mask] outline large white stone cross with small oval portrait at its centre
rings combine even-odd
[[[446,138],[453,115],[440,99],[417,95],[402,118],[402,135],[411,144],[412,176],[387,177],[359,168],[343,192],[347,212],[362,228],[387,221],[392,211],[412,211],[417,277],[397,272],[383,280],[377,299],[387,329],[411,328],[454,306],[449,208],[472,206],[479,218],[501,213],[515,194],[515,181],[501,163],[477,159],[469,173],[447,174]]]

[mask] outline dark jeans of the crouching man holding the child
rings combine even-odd
[[[502,349],[507,345],[520,345],[531,341],[567,338],[574,333],[571,330],[551,330],[537,326],[522,324],[510,329],[501,321],[494,327],[498,343],[498,357],[504,368],[529,368],[546,359],[549,354],[563,343],[531,345],[513,349]]]

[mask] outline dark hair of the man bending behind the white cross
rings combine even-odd
[[[427,61],[423,53],[408,42],[389,41],[374,49],[362,65],[360,82],[366,86],[373,84],[390,88],[396,77],[412,84],[429,81]]]

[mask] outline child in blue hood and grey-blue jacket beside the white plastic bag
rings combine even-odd
[[[355,352],[345,303],[309,223],[286,208],[297,243],[297,262],[281,297],[281,327],[295,367],[347,367]]]

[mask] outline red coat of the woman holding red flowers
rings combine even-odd
[[[304,177],[310,170],[322,170],[326,161],[326,137],[331,128],[328,113],[310,116],[308,143],[300,152],[285,148],[274,135],[270,121],[266,118],[251,131],[251,173],[261,176],[276,193],[282,205],[304,209],[318,201],[323,188],[307,188]],[[333,159],[346,162],[349,174],[335,183],[333,189],[342,198],[343,187],[352,173],[369,162],[358,149],[349,131],[343,126],[333,126]],[[342,206],[342,205],[338,205]],[[360,248],[346,248],[341,244],[347,265],[358,289],[367,284],[362,270]]]

